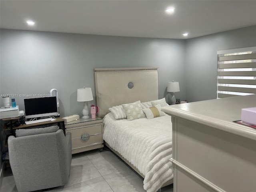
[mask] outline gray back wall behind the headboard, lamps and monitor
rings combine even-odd
[[[20,110],[23,94],[56,88],[60,116],[81,116],[77,88],[91,87],[95,96],[94,68],[100,67],[158,66],[159,98],[174,80],[180,82],[176,98],[185,100],[185,40],[2,29],[0,43],[0,92],[21,94],[15,98]]]

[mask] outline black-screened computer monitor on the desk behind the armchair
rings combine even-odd
[[[58,116],[56,96],[24,99],[26,118]]]

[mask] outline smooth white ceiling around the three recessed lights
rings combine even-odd
[[[256,0],[0,0],[3,29],[182,39],[253,25]]]

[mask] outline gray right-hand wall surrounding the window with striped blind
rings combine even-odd
[[[256,46],[256,26],[186,40],[186,100],[217,98],[217,51]]]

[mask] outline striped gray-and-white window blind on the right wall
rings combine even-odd
[[[217,98],[256,94],[256,47],[218,51]]]

